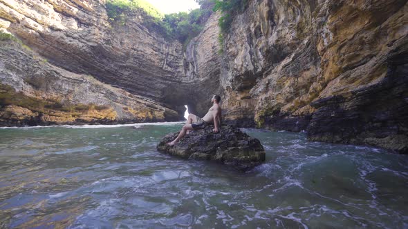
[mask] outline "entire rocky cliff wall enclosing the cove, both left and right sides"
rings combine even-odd
[[[111,23],[102,0],[0,0],[0,29],[32,49],[0,41],[1,91],[47,101],[42,110],[2,104],[0,119],[170,121],[185,104],[203,115],[219,93],[225,120],[237,126],[406,153],[407,4],[251,0],[221,46],[215,13],[183,50],[144,26],[142,12]]]

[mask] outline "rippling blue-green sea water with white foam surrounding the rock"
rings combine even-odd
[[[408,228],[405,155],[243,129],[243,173],[157,152],[181,125],[0,129],[0,228]]]

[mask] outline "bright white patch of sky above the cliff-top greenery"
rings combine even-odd
[[[173,12],[189,12],[189,10],[194,10],[200,8],[198,3],[194,0],[146,0],[151,5],[156,7],[160,12],[164,14],[171,14]]]

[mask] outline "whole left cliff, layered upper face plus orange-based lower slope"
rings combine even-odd
[[[140,26],[137,13],[118,25],[108,20],[104,1],[0,1],[0,28],[17,37],[0,41],[0,83],[12,91],[3,90],[4,97],[46,102],[44,110],[3,101],[0,122],[179,120],[183,108],[161,101],[182,71],[181,45]]]

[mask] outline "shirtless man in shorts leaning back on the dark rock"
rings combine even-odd
[[[220,100],[221,97],[219,95],[214,95],[212,97],[212,107],[210,108],[210,110],[208,110],[207,114],[204,115],[203,119],[196,115],[189,114],[187,118],[187,124],[185,124],[183,128],[181,128],[180,134],[178,134],[176,139],[167,143],[167,145],[174,146],[174,144],[177,143],[178,140],[184,137],[187,130],[200,130],[204,129],[206,126],[214,124],[214,129],[212,129],[212,132],[219,132],[219,125],[221,124],[221,107],[219,106]]]

